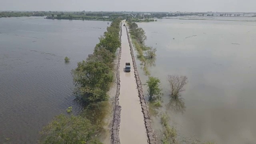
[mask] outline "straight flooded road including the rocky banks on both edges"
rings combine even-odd
[[[121,23],[120,31],[122,45],[118,53],[111,144],[157,144],[128,29],[122,26],[124,23],[124,21]],[[130,62],[131,72],[125,72],[126,62]]]

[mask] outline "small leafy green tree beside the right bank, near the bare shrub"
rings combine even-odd
[[[148,95],[149,100],[155,100],[154,96],[159,96],[161,94],[160,87],[160,79],[149,76],[148,80],[146,81],[146,85],[148,86]]]

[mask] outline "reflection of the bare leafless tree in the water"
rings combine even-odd
[[[167,104],[167,109],[172,110],[176,113],[184,113],[186,111],[186,106],[184,102],[184,98],[178,96],[178,98],[174,98],[171,96],[170,102]]]

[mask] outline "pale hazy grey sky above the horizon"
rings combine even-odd
[[[0,0],[1,10],[256,12],[256,0]]]

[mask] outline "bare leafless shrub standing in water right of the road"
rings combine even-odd
[[[170,83],[171,96],[178,98],[180,92],[184,91],[183,86],[188,83],[186,76],[168,75],[168,81]]]

